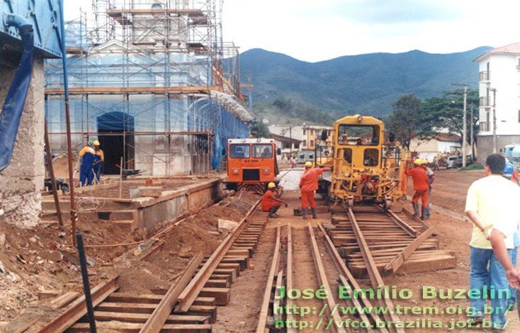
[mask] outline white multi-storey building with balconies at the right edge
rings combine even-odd
[[[487,50],[479,64],[478,162],[520,142],[520,43]]]

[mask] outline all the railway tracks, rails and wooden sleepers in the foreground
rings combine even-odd
[[[217,307],[229,302],[232,283],[249,266],[266,222],[267,214],[261,212],[257,201],[210,257],[198,254],[191,259],[169,290],[149,295],[120,293],[117,277],[94,287],[98,332],[212,332]],[[356,290],[384,289],[382,276],[392,273],[455,264],[451,254],[437,249],[434,227],[413,218],[407,210],[385,212],[369,205],[337,207],[332,210],[330,223],[298,223],[297,227],[283,220],[277,222],[256,332],[296,332],[302,328],[349,332],[346,323],[353,321],[358,322],[361,332],[405,332],[388,326],[389,322],[400,322],[390,297],[358,298]],[[295,261],[294,251],[295,244],[301,251],[302,242],[305,258],[312,259],[315,272],[305,288],[313,290],[315,298],[321,290],[321,297],[311,306],[312,320],[301,312],[288,311],[307,306],[301,299],[280,297],[283,287],[286,295],[288,290],[296,290],[295,276],[302,286],[303,263]],[[10,332],[90,332],[83,296],[63,295],[55,304],[55,309],[63,310],[53,320],[45,324],[29,322],[30,327]],[[388,312],[377,315],[371,311],[374,307],[385,307]]]

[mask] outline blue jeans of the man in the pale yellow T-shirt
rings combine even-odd
[[[508,249],[507,252],[509,258],[511,258],[512,249]],[[494,325],[503,327],[507,299],[509,298],[509,282],[504,267],[494,255],[492,249],[477,249],[475,247],[470,247],[470,265],[470,289],[480,290],[480,297],[473,296],[470,298],[470,305],[473,309],[472,316],[484,316],[486,298],[487,295],[490,295],[493,310],[491,321]],[[485,287],[487,287],[487,295],[482,290]]]

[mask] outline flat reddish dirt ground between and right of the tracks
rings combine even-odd
[[[300,172],[300,171],[294,171]],[[398,275],[384,277],[383,281],[387,286],[396,290],[410,289],[412,290],[412,298],[395,299],[395,306],[400,306],[400,320],[408,320],[415,323],[417,327],[406,329],[407,332],[490,332],[490,329],[480,327],[463,327],[467,320],[467,310],[469,300],[463,299],[441,299],[424,298],[422,296],[423,288],[433,288],[439,293],[443,290],[456,290],[469,288],[469,246],[471,236],[470,222],[462,219],[464,211],[465,195],[470,184],[476,179],[485,176],[484,171],[452,171],[441,170],[436,172],[436,181],[434,191],[432,192],[432,203],[434,207],[431,210],[431,219],[428,221],[431,225],[437,225],[437,235],[440,239],[439,249],[453,252],[457,258],[457,266],[454,269],[441,271],[429,271],[426,273],[414,273],[409,275]],[[285,178],[285,177],[284,177]],[[289,177],[298,179],[299,177]],[[290,183],[284,181],[283,183]],[[290,184],[284,185],[284,188],[290,188]],[[247,269],[241,276],[237,278],[232,285],[231,302],[226,307],[219,308],[219,317],[215,324],[215,332],[256,332],[257,316],[261,299],[263,298],[266,276],[269,273],[269,265],[271,264],[270,255],[273,252],[275,239],[275,228],[278,225],[285,226],[287,224],[293,227],[293,250],[295,262],[295,288],[300,290],[305,288],[317,288],[317,280],[315,278],[315,268],[312,263],[312,254],[310,252],[310,242],[305,237],[307,222],[322,221],[327,222],[330,218],[329,214],[321,214],[319,220],[304,221],[300,217],[293,216],[293,208],[299,205],[298,191],[286,191],[283,198],[289,202],[289,207],[282,207],[278,214],[280,218],[270,220],[266,225],[266,232],[262,235],[259,249],[257,249],[252,259],[255,269]],[[411,203],[405,201],[405,207],[411,209]],[[396,208],[397,209],[397,208]],[[443,212],[453,213],[443,213]],[[322,260],[327,271],[333,271],[334,267],[328,257],[328,252],[323,244],[320,244]],[[359,281],[362,286],[368,288],[368,281]],[[337,282],[334,278],[329,277],[329,283],[332,290],[337,290]],[[298,300],[297,305],[305,305],[311,307],[322,307],[321,300]],[[412,314],[412,307],[424,307],[423,314]],[[429,314],[429,309],[438,311],[438,314]],[[406,310],[405,310],[406,309]],[[417,309],[416,309],[417,310]],[[406,314],[404,312],[407,312]],[[449,312],[449,314],[448,314]],[[455,313],[453,313],[455,312]],[[309,315],[300,320],[308,320],[309,322],[317,322],[320,316],[311,312]],[[427,328],[427,322],[417,322],[417,320],[439,320],[447,327]],[[490,316],[487,316],[490,320]],[[509,312],[507,315],[507,329],[504,332],[520,332],[520,322],[516,310]],[[451,325],[453,324],[453,327]],[[459,325],[459,327],[457,327]],[[462,326],[462,327],[460,327]],[[321,332],[321,329],[304,329],[302,332]],[[356,329],[347,329],[347,332],[358,332]]]

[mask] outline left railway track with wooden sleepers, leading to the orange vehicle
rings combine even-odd
[[[230,300],[230,286],[248,267],[266,224],[267,213],[259,203],[254,203],[210,257],[194,256],[166,293],[119,293],[117,276],[92,288],[97,331],[211,332],[217,306]],[[64,295],[55,310],[60,314],[52,320],[26,320],[7,332],[91,332],[84,296]]]

